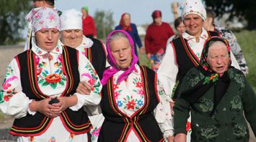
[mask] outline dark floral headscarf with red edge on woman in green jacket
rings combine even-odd
[[[229,52],[229,56],[230,56],[230,47],[229,47],[229,42],[226,41],[226,39],[222,38],[222,37],[211,37],[210,39],[207,39],[204,47],[203,47],[203,51],[201,54],[201,58],[200,58],[200,65],[203,67],[204,70],[206,70],[207,72],[213,72],[213,70],[211,70],[210,65],[207,62],[207,57],[208,57],[208,49],[209,47],[211,47],[211,45],[214,42],[223,42],[226,45],[226,49],[228,49]]]

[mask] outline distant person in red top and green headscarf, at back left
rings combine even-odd
[[[97,29],[94,24],[94,19],[88,14],[88,7],[84,6],[81,8],[83,14],[83,34],[85,37],[97,38]]]

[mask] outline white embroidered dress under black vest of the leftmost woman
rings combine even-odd
[[[66,88],[66,75],[63,74],[63,63],[61,62],[61,54],[63,52],[61,43],[58,42],[58,46],[51,52],[45,52],[33,43],[32,52],[35,53],[37,85],[40,90],[50,97],[60,96]],[[45,56],[48,54],[50,54],[50,59]],[[81,52],[79,52],[78,56],[80,80],[87,81],[93,86],[93,89],[89,95],[74,94],[78,98],[78,103],[70,107],[74,111],[79,110],[84,105],[98,105],[101,100],[100,91],[102,89],[100,79],[89,60]],[[55,74],[54,79],[50,78],[53,74]],[[12,115],[14,118],[22,118],[27,113],[32,115],[37,113],[31,112],[28,108],[31,102],[32,100],[27,98],[25,93],[22,92],[19,65],[17,60],[14,59],[7,67],[2,90],[0,91],[0,109],[6,115]],[[69,133],[63,126],[61,119],[56,117],[45,133],[34,137],[18,136],[17,141],[87,141],[87,134],[74,135]]]

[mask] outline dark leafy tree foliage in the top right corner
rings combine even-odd
[[[206,6],[211,7],[216,16],[230,14],[229,21],[237,17],[239,20],[247,21],[247,29],[256,29],[256,1],[255,0],[204,0]]]

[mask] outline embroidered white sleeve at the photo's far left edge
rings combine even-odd
[[[5,115],[22,118],[27,115],[29,98],[22,93],[19,67],[14,59],[9,64],[0,91],[0,109]]]

